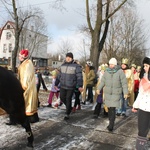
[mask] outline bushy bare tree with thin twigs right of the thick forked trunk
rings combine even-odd
[[[107,60],[111,57],[119,61],[123,57],[129,59],[129,64],[140,64],[145,54],[146,35],[141,31],[143,24],[135,9],[121,8],[121,13],[111,18],[111,28],[105,41],[103,54]]]

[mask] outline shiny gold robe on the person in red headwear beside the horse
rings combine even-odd
[[[26,59],[20,64],[18,67],[18,78],[24,89],[26,115],[34,115],[34,113],[37,113],[38,99],[34,66],[31,60]]]

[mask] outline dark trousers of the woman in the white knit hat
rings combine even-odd
[[[116,118],[116,107],[108,108],[109,127],[113,129]]]

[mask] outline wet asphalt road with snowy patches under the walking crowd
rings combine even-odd
[[[47,103],[48,94],[40,93],[41,105]],[[59,109],[41,106],[40,122],[31,124],[35,138],[34,150],[134,150],[137,114],[132,113],[130,108],[127,112],[127,117],[116,118],[114,131],[109,132],[106,129],[108,118],[100,116],[94,119],[92,104],[82,105],[82,110],[72,113],[68,121],[63,120],[64,106]],[[6,117],[3,116],[2,119]],[[3,138],[0,150],[31,149],[26,147],[24,129],[11,126],[6,130],[11,139]]]

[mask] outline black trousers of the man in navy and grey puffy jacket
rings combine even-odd
[[[66,105],[66,114],[69,115],[72,110],[72,96],[74,90],[60,88],[60,99]]]

